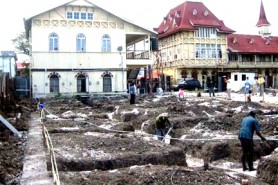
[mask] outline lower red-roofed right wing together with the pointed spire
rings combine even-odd
[[[232,79],[235,83],[245,81],[245,73],[252,72],[255,78],[265,78],[266,88],[278,88],[278,37],[271,36],[262,2],[256,26],[259,35],[228,35],[229,63],[225,70],[241,73]]]

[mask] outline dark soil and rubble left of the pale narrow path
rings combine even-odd
[[[0,184],[19,184],[22,168],[26,133],[30,113],[34,108],[29,108],[30,101],[17,99],[17,104],[10,106],[9,111],[2,110],[1,115],[21,132],[19,138],[0,122]]]

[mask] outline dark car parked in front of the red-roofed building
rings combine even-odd
[[[184,90],[199,90],[201,89],[201,83],[194,78],[186,78],[180,81],[178,85],[173,85],[172,90],[178,91],[183,88]]]

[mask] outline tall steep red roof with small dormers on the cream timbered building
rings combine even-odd
[[[158,38],[181,30],[197,30],[198,27],[215,27],[219,32],[234,33],[226,27],[202,2],[187,1],[170,10],[155,30]]]

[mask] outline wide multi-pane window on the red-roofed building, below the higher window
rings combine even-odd
[[[222,58],[220,44],[196,44],[196,58]]]

